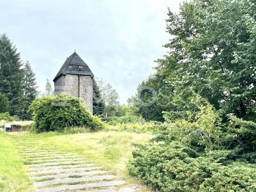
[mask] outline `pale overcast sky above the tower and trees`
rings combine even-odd
[[[0,33],[30,61],[40,91],[76,50],[126,103],[166,53],[167,7],[178,12],[181,1],[1,0]]]

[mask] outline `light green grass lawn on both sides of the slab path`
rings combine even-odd
[[[18,136],[17,136],[18,135]],[[19,138],[22,137],[22,140]],[[146,133],[128,132],[92,132],[79,134],[60,133],[0,133],[0,191],[31,191],[33,182],[25,174],[27,159],[21,159],[18,152],[26,147],[16,147],[17,143],[29,146],[36,141],[40,145],[50,144],[54,149],[77,153],[103,169],[125,179],[128,183],[137,183],[131,178],[126,169],[126,163],[132,158],[133,143],[145,143],[151,138]],[[148,189],[143,188],[144,191]]]

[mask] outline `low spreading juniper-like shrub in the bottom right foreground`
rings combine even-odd
[[[256,190],[255,165],[231,163],[225,166],[177,141],[169,145],[140,146],[133,157],[130,173],[160,191]]]

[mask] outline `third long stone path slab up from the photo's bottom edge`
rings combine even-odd
[[[100,167],[78,167],[72,169],[50,169],[50,170],[43,170],[43,171],[30,171],[28,172],[30,175],[36,174],[49,174],[49,173],[71,173],[71,172],[79,172],[79,171],[91,171],[91,170],[99,170]]]

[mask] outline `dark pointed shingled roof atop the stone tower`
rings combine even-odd
[[[94,77],[89,66],[81,59],[81,57],[79,57],[76,52],[67,58],[57,75],[54,77],[53,81],[55,81],[55,79],[57,79],[60,75],[66,74],[87,75]]]

